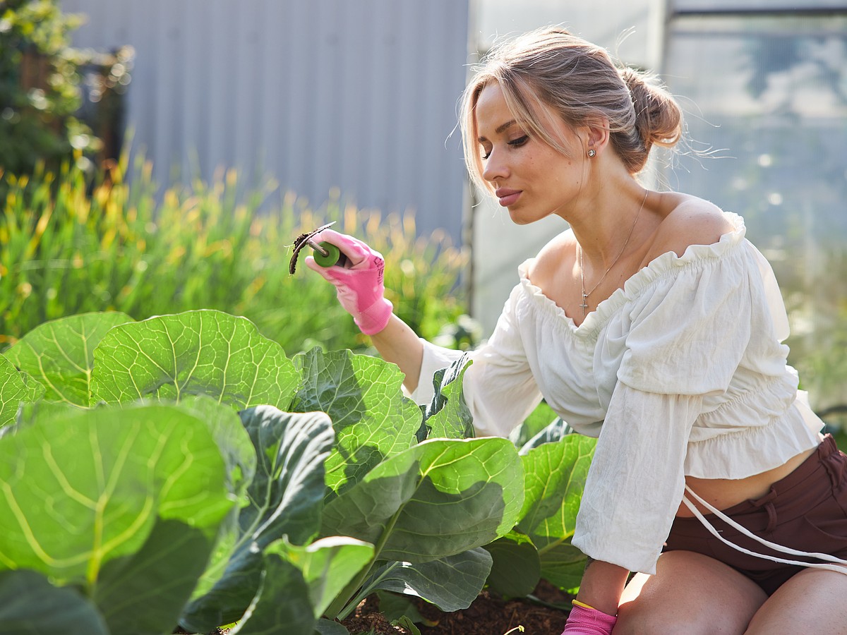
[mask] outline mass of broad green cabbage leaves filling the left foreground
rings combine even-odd
[[[222,312],[42,324],[0,357],[0,623],[335,635],[380,589],[573,586],[591,447],[472,438],[465,367],[420,408],[393,364]]]

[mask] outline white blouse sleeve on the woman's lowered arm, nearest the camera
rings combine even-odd
[[[743,243],[715,257],[662,258],[610,329],[625,338],[624,352],[572,541],[596,560],[645,573],[655,572],[682,500],[704,398],[728,389],[751,329],[772,329]]]

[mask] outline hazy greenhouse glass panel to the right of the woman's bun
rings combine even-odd
[[[662,75],[691,139],[663,178],[745,217],[801,387],[847,401],[847,16],[678,16]]]

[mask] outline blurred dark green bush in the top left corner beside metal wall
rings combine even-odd
[[[0,169],[32,174],[96,152],[100,140],[75,117],[82,103],[79,52],[69,32],[81,24],[53,0],[0,3]],[[76,151],[76,153],[75,153]],[[0,190],[0,194],[3,191]]]

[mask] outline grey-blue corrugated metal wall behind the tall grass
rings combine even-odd
[[[172,168],[270,175],[319,207],[416,212],[459,240],[457,99],[468,0],[61,0],[74,46],[136,49],[134,151]],[[196,153],[196,154],[195,154]]]

